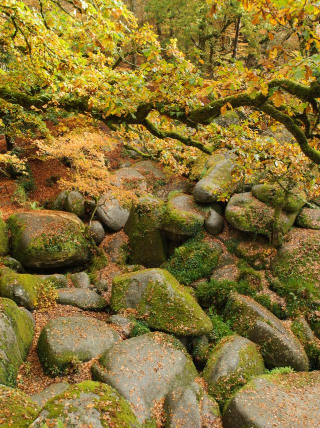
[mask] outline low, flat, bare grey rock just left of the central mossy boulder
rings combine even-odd
[[[57,302],[89,311],[102,311],[107,306],[106,301],[95,291],[84,288],[58,289]]]

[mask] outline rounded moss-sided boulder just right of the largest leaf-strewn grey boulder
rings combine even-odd
[[[203,370],[208,393],[220,406],[252,377],[265,371],[258,347],[241,336],[227,336],[213,349]]]

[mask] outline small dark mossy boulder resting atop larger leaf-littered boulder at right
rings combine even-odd
[[[284,201],[284,190],[273,184],[256,184],[251,189],[252,195],[267,205],[277,206]],[[292,190],[294,193],[294,190]],[[305,194],[298,191],[297,194],[289,194],[283,205],[284,211],[298,211],[305,204]]]

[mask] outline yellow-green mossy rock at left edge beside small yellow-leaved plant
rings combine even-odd
[[[26,309],[34,309],[44,282],[36,275],[18,274],[8,268],[0,270],[0,296],[13,300]]]

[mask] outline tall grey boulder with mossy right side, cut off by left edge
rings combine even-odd
[[[0,298],[0,384],[15,380],[30,348],[34,327],[12,300]],[[1,419],[1,417],[0,417]]]

